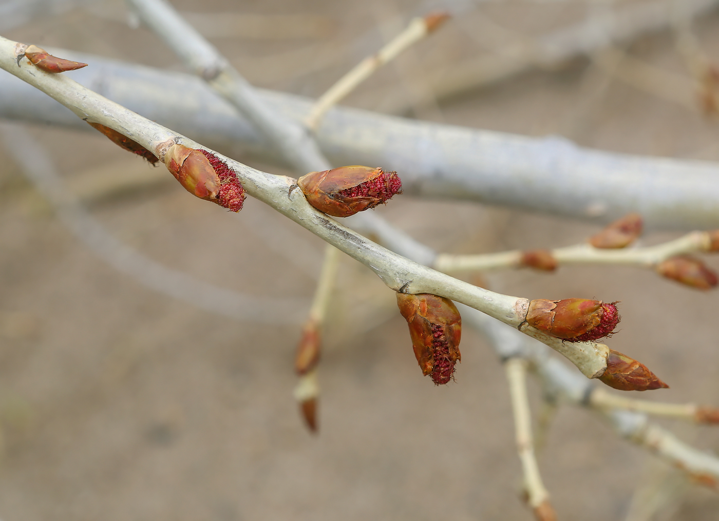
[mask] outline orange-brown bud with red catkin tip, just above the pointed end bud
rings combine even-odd
[[[527,323],[569,342],[588,342],[610,336],[620,321],[616,303],[601,300],[565,298],[536,299],[529,303]]]

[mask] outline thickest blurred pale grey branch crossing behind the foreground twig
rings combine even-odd
[[[106,96],[148,119],[215,147],[237,149],[241,144],[243,153],[278,162],[275,147],[193,76],[50,52],[91,63],[73,72],[73,78],[101,86]],[[259,97],[296,123],[311,106],[289,94],[265,92]],[[34,89],[1,76],[0,116],[86,127]],[[316,139],[336,165],[402,170],[408,195],[477,200],[599,221],[634,211],[648,226],[719,228],[719,167],[712,162],[613,154],[559,137],[522,137],[344,107],[326,115]]]

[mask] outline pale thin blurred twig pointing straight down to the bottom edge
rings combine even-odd
[[[514,412],[517,452],[522,462],[524,486],[528,494],[528,503],[535,517],[540,521],[555,520],[554,509],[549,503],[549,494],[544,488],[534,456],[532,441],[531,413],[526,387],[527,361],[511,358],[505,361],[505,371],[509,382]]]

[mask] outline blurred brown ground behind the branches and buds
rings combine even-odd
[[[173,4],[194,14],[189,19],[208,35],[223,13],[242,14],[211,41],[255,85],[306,96],[319,96],[410,17],[439,5]],[[561,134],[616,152],[719,160],[718,121],[702,114],[693,93],[686,103],[661,98],[590,60],[414,103],[431,93],[432,71],[501,52],[519,35],[580,22],[587,11],[580,1],[446,6],[458,16],[344,103],[448,124]],[[182,70],[170,50],[124,17],[122,1],[94,1],[4,36]],[[695,29],[707,55],[719,57],[719,12],[702,15]],[[669,31],[642,37],[627,52],[690,79]],[[409,102],[398,106],[397,99]],[[253,295],[311,296],[321,241],[262,203],[248,199],[239,216],[230,215],[188,197],[164,169],[153,170],[99,134],[29,128],[93,215],[148,257],[208,282],[221,277]],[[117,177],[145,174],[157,182],[118,188]],[[564,246],[597,231],[581,222],[406,196],[377,211],[444,252]],[[295,235],[300,249],[280,255],[267,246],[262,234],[277,228]],[[642,244],[672,236],[649,231]],[[719,268],[719,259],[707,262]],[[716,292],[628,267],[503,271],[486,280],[493,290],[528,298],[620,300],[621,331],[608,344],[672,386],[642,397],[719,405]],[[347,257],[336,302],[314,437],[292,397],[298,326],[232,321],[143,287],[89,252],[3,158],[0,518],[531,519],[518,499],[521,469],[503,369],[485,340],[464,328],[457,382],[434,387],[416,366],[393,293]],[[535,413],[540,401],[533,399]],[[684,441],[719,449],[716,429],[663,423]],[[665,471],[653,461],[595,415],[565,407],[540,465],[559,519],[598,521],[626,518],[634,489]],[[690,487],[652,519],[717,520],[719,497]]]

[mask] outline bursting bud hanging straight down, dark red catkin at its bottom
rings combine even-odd
[[[457,306],[448,298],[430,293],[398,293],[397,305],[409,325],[412,349],[422,374],[429,374],[436,385],[446,384],[452,379],[454,365],[462,361],[462,317]]]

